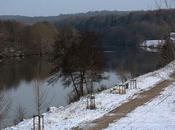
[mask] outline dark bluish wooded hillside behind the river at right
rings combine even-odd
[[[56,25],[98,31],[104,36],[105,46],[137,46],[146,39],[165,39],[169,32],[174,31],[175,9],[78,17],[58,21]]]

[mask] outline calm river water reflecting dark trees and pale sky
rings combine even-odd
[[[153,71],[158,67],[158,53],[146,52],[141,49],[124,49],[106,51],[107,68],[105,74],[109,76],[99,84],[107,87],[120,82],[123,74],[132,77]],[[37,64],[41,64],[40,76],[36,74]],[[3,126],[12,125],[19,106],[22,106],[27,117],[36,114],[35,86],[36,79],[41,82],[40,88],[47,95],[47,103],[43,112],[49,106],[65,106],[68,104],[68,96],[71,87],[64,87],[61,81],[48,85],[52,64],[48,58],[11,59],[0,63],[0,91],[4,93],[10,102],[2,122]],[[98,85],[98,84],[97,84]]]

